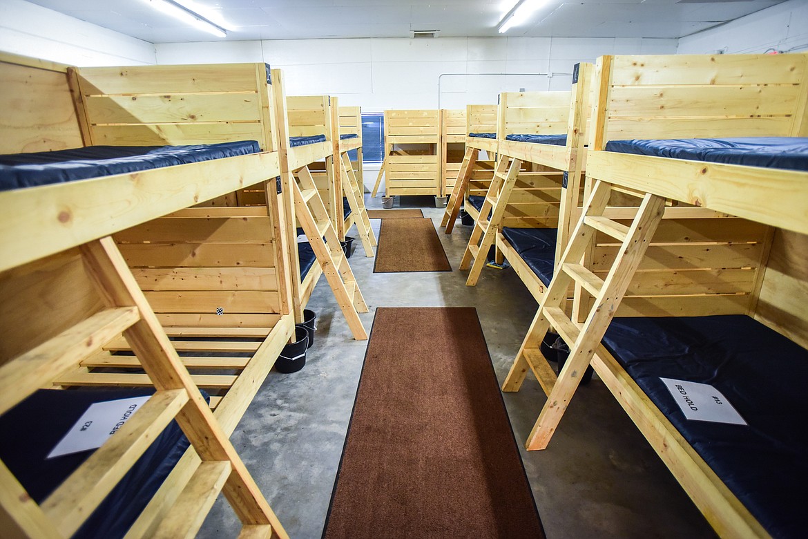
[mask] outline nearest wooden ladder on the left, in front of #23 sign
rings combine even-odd
[[[81,246],[80,253],[106,308],[2,365],[0,414],[120,333],[141,359],[155,393],[41,504],[27,496],[0,463],[4,537],[72,536],[172,419],[201,461],[154,537],[195,535],[220,492],[242,521],[242,535],[288,537],[191,380],[115,242],[109,237],[95,240]]]

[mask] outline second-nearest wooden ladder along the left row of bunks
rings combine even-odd
[[[300,221],[305,235],[309,238],[312,251],[317,255],[318,263],[326,280],[334,291],[339,309],[343,311],[348,327],[356,340],[368,339],[364,331],[360,313],[368,312],[359,285],[356,284],[347,256],[339,243],[337,231],[331,222],[326,206],[314,184],[309,167],[304,166],[297,174],[292,175],[297,181],[292,182],[295,199],[295,217]]]

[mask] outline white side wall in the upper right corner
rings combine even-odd
[[[679,54],[808,50],[808,2],[789,0],[679,40]]]

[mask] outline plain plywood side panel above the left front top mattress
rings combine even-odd
[[[0,154],[82,147],[68,66],[0,53]]]

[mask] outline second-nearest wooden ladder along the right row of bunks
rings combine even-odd
[[[508,166],[509,160],[511,161],[510,166]],[[486,193],[486,200],[482,203],[480,217],[474,223],[469,245],[465,247],[465,253],[460,263],[461,270],[469,269],[469,264],[471,265],[469,277],[465,280],[466,286],[474,286],[480,278],[482,267],[486,264],[488,251],[494,245],[499,223],[503,220],[507,201],[511,198],[511,191],[516,185],[521,166],[522,162],[519,159],[511,160],[505,156],[499,158],[494,178],[491,179]]]

